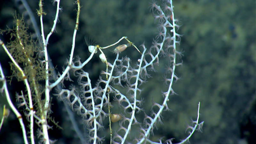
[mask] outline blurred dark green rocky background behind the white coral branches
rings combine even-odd
[[[85,60],[89,55],[84,36],[89,36],[101,46],[112,44],[121,36],[128,36],[137,46],[145,42],[149,48],[157,32],[157,22],[154,22],[153,15],[149,12],[150,2],[81,1],[83,7],[76,36],[75,56],[79,55]],[[49,41],[49,53],[57,71],[62,71],[71,49],[76,17],[76,5],[73,3],[69,0],[60,2],[63,8],[60,23],[57,24],[57,33]],[[29,5],[38,20],[38,3],[29,1]],[[157,125],[158,130],[154,131],[153,139],[162,136],[164,139],[174,137],[175,142],[184,139],[188,135],[185,133],[186,126],[191,123],[190,118],[195,120],[200,101],[203,133],[196,132],[190,139],[191,143],[256,143],[255,0],[177,0],[173,1],[173,5],[174,16],[181,25],[178,33],[183,35],[178,48],[184,54],[183,66],[178,67],[176,72],[181,79],[173,85],[174,91],[179,95],[171,96],[168,105],[172,111],[163,113],[164,124]],[[13,13],[22,13],[18,7],[19,4],[12,1],[0,2],[1,29],[13,27]],[[51,2],[44,1],[44,11],[47,13],[44,16],[44,30],[48,33],[55,7]],[[1,39],[8,42],[8,36],[1,36]],[[141,47],[140,50],[142,51]],[[110,51],[104,52],[108,60],[115,58]],[[133,49],[128,49],[121,55],[131,57],[133,62],[140,56]],[[5,75],[10,76],[9,58],[3,49],[0,49],[0,56]],[[143,85],[141,97],[144,98],[143,107],[148,114],[151,100],[160,102],[161,90],[166,90],[162,81],[165,65],[166,60],[160,59],[160,65],[156,66],[157,72],[151,73],[154,77],[147,79],[148,82]],[[92,79],[97,80],[102,67],[104,64],[95,57],[85,70],[89,71]],[[15,92],[20,92],[22,87],[15,85],[15,80],[12,81],[14,84],[9,86],[9,90],[15,101]],[[1,108],[3,104],[6,104],[6,100],[1,96]],[[61,102],[53,105],[52,109],[52,116],[64,128],[63,131],[56,127],[50,130],[52,139],[58,139],[57,143],[77,142],[77,137],[69,128],[70,122],[66,120],[66,114],[62,113]],[[0,143],[23,143],[20,131],[20,125],[11,113],[0,131]],[[104,131],[107,131],[107,126]],[[108,141],[108,136],[105,139]]]

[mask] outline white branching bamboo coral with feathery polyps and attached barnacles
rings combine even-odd
[[[78,131],[76,132],[81,139],[87,139],[86,142],[88,143],[103,143],[104,136],[100,136],[100,132],[102,131],[102,128],[104,128],[103,120],[106,117],[108,117],[108,128],[110,130],[110,142],[108,143],[163,143],[162,139],[159,139],[158,142],[152,140],[153,132],[156,129],[156,124],[162,124],[162,112],[164,110],[169,110],[167,102],[170,101],[170,96],[172,94],[176,94],[172,89],[173,82],[179,79],[179,77],[175,74],[175,69],[176,67],[182,65],[182,62],[177,62],[176,57],[177,55],[180,57],[182,55],[182,53],[176,49],[176,44],[180,44],[181,35],[177,33],[177,28],[180,26],[176,24],[178,20],[174,17],[172,0],[162,1],[164,10],[162,10],[161,6],[156,4],[154,1],[151,4],[150,11],[153,12],[155,21],[158,21],[157,29],[159,32],[149,49],[147,49],[146,46],[142,44],[141,46],[143,48],[143,52],[140,52],[140,50],[125,36],[121,37],[116,43],[105,47],[91,44],[90,40],[85,37],[85,43],[88,46],[90,56],[83,62],[80,59],[73,60],[76,33],[79,26],[79,15],[81,11],[80,1],[77,0],[75,2],[77,5],[76,23],[72,37],[72,46],[68,64],[65,68],[63,68],[62,72],[58,73],[58,75],[55,77],[55,80],[50,82],[49,77],[51,76],[51,68],[49,66],[50,58],[48,57],[47,53],[49,48],[48,44],[50,36],[53,34],[57,26],[59,12],[62,10],[62,8],[60,8],[60,0],[55,0],[53,3],[55,2],[57,3],[56,14],[53,20],[52,28],[46,38],[44,35],[45,30],[43,23],[43,16],[46,14],[46,12],[43,10],[42,0],[39,1],[39,9],[37,10],[37,15],[40,18],[41,26],[42,52],[44,53],[43,60],[37,59],[38,61],[41,61],[39,65],[44,66],[44,69],[38,70],[38,73],[44,73],[44,99],[42,99],[40,96],[40,94],[43,92],[38,89],[38,75],[34,73],[26,73],[27,69],[33,72],[35,68],[38,68],[38,66],[37,63],[33,63],[35,58],[33,56],[27,55],[27,41],[25,41],[26,39],[20,36],[20,34],[22,34],[22,30],[19,29],[21,24],[19,23],[19,19],[17,19],[16,30],[13,30],[16,32],[16,34],[13,34],[13,36],[16,37],[17,42],[15,43],[15,41],[13,41],[11,43],[18,45],[17,50],[22,51],[26,56],[26,59],[17,63],[17,57],[15,57],[15,54],[10,52],[11,48],[7,48],[3,41],[0,40],[0,44],[11,59],[12,64],[16,68],[16,71],[21,74],[18,75],[18,78],[21,79],[26,85],[26,93],[23,94],[23,92],[21,92],[21,95],[17,94],[17,98],[20,102],[20,106],[25,107],[26,109],[25,115],[29,117],[28,122],[30,131],[30,143],[35,143],[34,123],[39,126],[39,129],[37,130],[37,136],[41,140],[40,142],[46,144],[54,142],[49,138],[48,129],[51,127],[47,123],[47,119],[49,119],[49,113],[51,111],[50,99],[54,95],[58,96],[65,104],[71,108],[72,111],[76,111],[77,114],[82,117],[87,129],[88,138],[81,138],[81,134],[79,134]],[[121,44],[116,46],[113,51],[116,54],[116,58],[112,63],[108,62],[107,57],[102,50],[120,44],[122,40],[126,40],[128,44]],[[136,63],[133,64],[131,64],[132,62],[130,58],[119,57],[120,52],[125,52],[125,49],[129,46],[134,47],[141,54],[141,57],[138,58],[138,60],[135,60]],[[96,54],[98,50],[100,51],[100,60],[106,64],[106,70],[101,73],[101,75],[106,76],[106,79],[103,79],[101,76],[99,76],[96,85],[93,86],[89,73],[84,69],[86,69],[86,64],[92,60],[94,54]],[[161,56],[166,57],[166,60],[168,60],[168,65],[166,65],[167,68],[164,74],[167,91],[158,95],[163,96],[160,103],[156,103],[152,100],[153,104],[151,108],[151,114],[146,114],[146,112],[143,110],[143,98],[141,98],[140,94],[143,90],[143,84],[146,83],[146,79],[151,77],[150,71],[156,71],[154,67],[159,65],[159,59],[161,59]],[[21,67],[21,64],[26,66],[28,65],[29,67]],[[74,74],[77,77],[77,82],[73,81],[69,77],[70,70],[74,71]],[[7,84],[1,65],[0,72],[0,80],[3,82],[1,90],[4,91],[9,106],[12,108],[12,111],[15,113],[20,122],[24,142],[28,143],[27,132],[22,120],[22,116],[10,100],[10,95],[7,89]],[[74,85],[70,86],[69,89],[65,89],[64,81],[71,81],[74,83]],[[50,93],[51,90],[57,87],[59,84],[62,84],[62,87],[57,90],[57,93],[52,95]],[[77,89],[77,85],[79,85],[80,88]],[[123,92],[120,87],[125,89],[125,92],[127,93]],[[120,109],[122,109],[124,112],[112,114],[110,96],[113,96],[114,101],[118,103]],[[106,107],[108,110],[106,110]],[[181,140],[180,143],[185,143],[188,141],[188,139],[196,130],[200,132],[202,131],[204,122],[199,123],[199,109],[200,102],[198,103],[197,119],[193,121],[192,126],[188,126],[187,130],[189,131],[189,135],[184,140]],[[144,120],[141,121],[139,120],[140,118],[138,114],[142,111],[145,113],[145,117]],[[111,122],[119,123],[119,128],[114,133],[113,138]],[[129,138],[128,135],[131,133],[131,131],[135,131],[133,128],[134,125],[139,127],[139,130],[137,130],[139,135],[133,138]],[[173,138],[167,138],[165,143],[172,143],[172,140]]]

